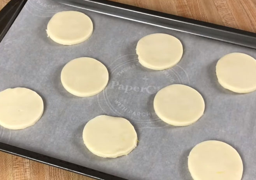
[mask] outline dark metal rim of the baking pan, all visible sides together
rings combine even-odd
[[[27,0],[11,0],[5,7],[0,11],[0,41],[5,36],[12,23],[18,16],[19,12],[25,5]],[[202,21],[197,21],[194,19],[189,19],[185,17],[179,17],[171,14],[166,14],[162,12],[157,12],[153,10],[142,9],[139,7],[133,7],[130,5],[125,5],[116,2],[110,2],[107,0],[73,0],[69,2],[68,0],[55,0],[60,3],[67,5],[72,5],[75,7],[81,7],[83,9],[93,10],[103,14],[108,14],[111,16],[117,16],[124,19],[130,19],[133,21],[139,21],[141,23],[153,24],[163,28],[174,29],[178,31],[184,31],[187,33],[199,35],[202,37],[212,38],[216,40],[221,40],[224,42],[230,42],[232,44],[238,44],[245,47],[250,47],[256,49],[256,33],[238,30],[235,28],[228,28],[226,26],[220,26],[217,24],[206,23]],[[103,10],[102,10],[103,9]],[[109,12],[108,12],[109,10]],[[114,13],[112,12],[114,10]],[[110,14],[110,12],[112,14]],[[125,12],[119,14],[120,12]],[[117,13],[117,14],[115,14]],[[129,17],[129,15],[131,15]],[[125,16],[124,16],[125,15]],[[137,16],[137,20],[136,17]],[[145,18],[146,19],[143,19]],[[33,161],[38,161],[50,166],[68,170],[81,175],[86,175],[88,177],[96,178],[99,180],[126,180],[124,178],[119,178],[107,173],[96,171],[90,168],[79,166],[77,164],[69,163],[67,161],[62,161],[53,157],[45,156],[36,152],[21,149],[0,142],[0,150],[9,154],[31,159]]]

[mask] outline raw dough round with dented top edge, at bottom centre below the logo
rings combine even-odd
[[[87,122],[82,138],[93,154],[112,158],[129,154],[138,142],[137,133],[128,120],[108,115],[99,115]]]

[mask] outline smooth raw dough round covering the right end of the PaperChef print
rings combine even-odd
[[[203,115],[204,109],[201,94],[182,84],[164,87],[154,97],[156,115],[173,126],[188,126],[196,122]]]

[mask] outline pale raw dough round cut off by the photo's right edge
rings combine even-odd
[[[223,56],[216,65],[219,84],[235,93],[256,90],[256,60],[251,56],[233,52]]]

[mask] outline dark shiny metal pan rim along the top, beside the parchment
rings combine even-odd
[[[175,16],[154,10],[108,0],[54,0],[66,5],[79,7],[94,12],[107,14],[123,19],[152,24],[162,28],[182,31],[201,37],[229,42],[256,49],[256,33],[238,30],[212,23],[206,23],[186,17]]]

